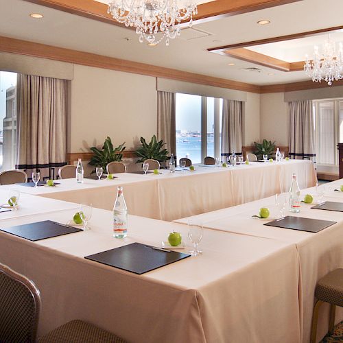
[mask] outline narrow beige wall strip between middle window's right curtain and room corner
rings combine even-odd
[[[244,103],[243,145],[253,145],[260,139],[260,95],[247,93]]]

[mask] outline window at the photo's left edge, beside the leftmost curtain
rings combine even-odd
[[[16,163],[16,73],[0,71],[0,170]]]

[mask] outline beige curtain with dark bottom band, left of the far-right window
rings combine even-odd
[[[289,102],[289,156],[315,161],[314,113],[311,100]]]

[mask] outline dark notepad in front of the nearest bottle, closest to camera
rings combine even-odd
[[[144,274],[189,256],[182,252],[157,250],[145,244],[132,243],[84,258],[135,274]]]

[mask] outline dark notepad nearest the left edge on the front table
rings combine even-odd
[[[72,226],[52,222],[51,220],[11,226],[10,228],[0,228],[0,230],[5,233],[10,233],[11,235],[28,239],[29,241],[39,241],[40,239],[58,237],[82,231],[80,228],[73,228]]]

